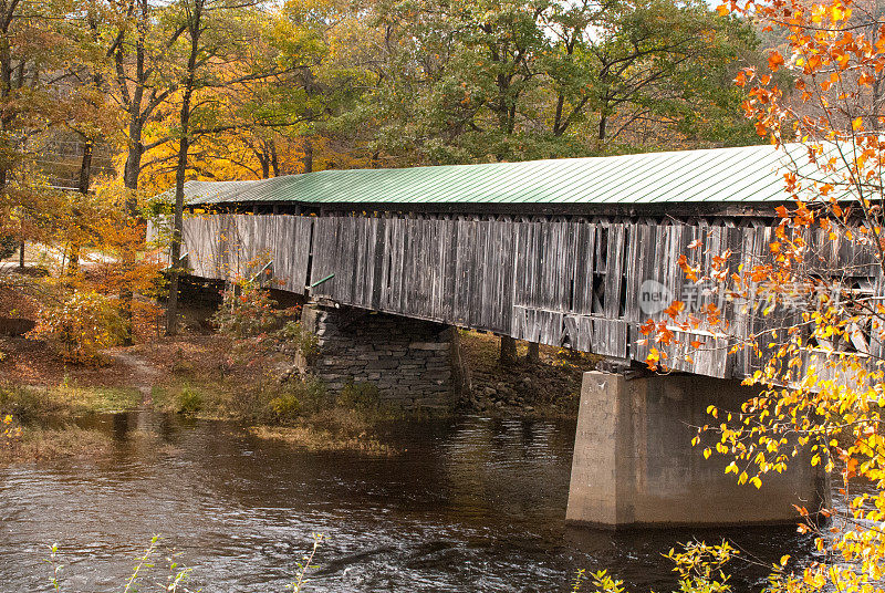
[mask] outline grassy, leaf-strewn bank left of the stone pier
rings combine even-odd
[[[108,351],[93,367],[62,365],[32,341],[7,340],[4,351],[0,373],[11,378],[0,383],[0,415],[12,415],[21,436],[14,445],[0,439],[0,464],[103,455],[107,439],[73,420],[138,407],[242,422],[254,436],[293,447],[371,455],[393,452],[374,436],[375,425],[402,415],[367,386],[335,397],[315,381],[280,381],[285,361],[240,357],[218,335]]]

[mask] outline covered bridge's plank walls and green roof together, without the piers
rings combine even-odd
[[[679,269],[689,243],[699,240],[707,260],[730,249],[735,266],[767,256],[787,158],[806,162],[805,148],[189,181],[183,253],[202,278],[266,268],[262,279],[294,293],[644,361],[639,324],[674,299],[698,311],[714,299]],[[851,263],[847,281],[873,290],[872,253],[822,232],[810,239]],[[783,321],[716,304],[743,334]],[[857,346],[878,347],[866,340]],[[707,347],[691,362],[670,356],[677,370],[742,377],[758,365],[702,332],[690,341]]]

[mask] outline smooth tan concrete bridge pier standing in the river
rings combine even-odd
[[[762,488],[738,486],[723,458],[691,447],[706,408],[739,409],[754,392],[738,381],[696,375],[584,373],[566,521],[608,529],[638,526],[794,523],[793,504],[829,504],[820,468],[798,457]]]

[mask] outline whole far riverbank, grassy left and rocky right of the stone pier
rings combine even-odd
[[[435,415],[569,416],[581,374],[594,364],[550,347],[528,362],[523,345],[523,358],[501,366],[496,336],[462,332],[461,344],[471,388]],[[0,414],[21,427],[14,444],[0,447],[6,464],[104,454],[103,437],[73,424],[98,413],[153,409],[236,420],[253,436],[293,447],[382,456],[395,450],[377,438],[377,425],[418,416],[383,404],[368,384],[332,396],[317,381],[281,373],[285,356],[243,355],[236,341],[217,334],[111,348],[93,366],[65,364],[48,344],[24,337],[0,339]]]

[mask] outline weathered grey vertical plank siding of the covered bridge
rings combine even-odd
[[[644,361],[638,327],[664,319],[671,300],[698,314],[716,305],[738,335],[795,324],[798,313],[763,315],[753,303],[725,300],[685,279],[679,257],[709,270],[730,250],[729,267],[771,257],[773,229],[759,221],[660,221],[639,218],[550,218],[391,214],[322,216],[212,215],[185,221],[185,248],[196,275],[232,279],[272,260],[274,281],[292,292],[334,277],[311,293],[342,304]],[[809,231],[809,266],[841,268],[857,290],[883,298],[885,283],[868,248]],[[689,245],[697,242],[700,249]],[[309,272],[310,270],[310,272]],[[308,278],[310,275],[310,278]],[[649,284],[650,283],[650,284]],[[853,283],[853,284],[852,284]],[[660,310],[641,303],[660,287]],[[861,329],[858,350],[885,347]],[[678,371],[747,376],[761,364],[749,350],[730,352],[709,333],[678,332],[688,346],[656,346]],[[866,337],[865,337],[866,336]],[[864,342],[865,341],[865,342]]]

